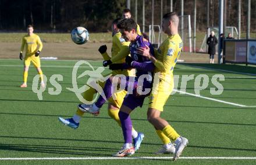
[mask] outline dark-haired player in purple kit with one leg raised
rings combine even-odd
[[[150,47],[151,54],[154,55],[154,48],[141,35],[137,34],[137,24],[134,20],[124,19],[120,21],[118,28],[122,33],[122,37],[127,42],[131,42],[129,46],[131,57],[126,57],[126,63],[111,64],[109,68],[112,70],[135,68],[136,77],[127,77],[122,75],[120,75],[120,77],[110,77],[105,83],[103,92],[106,96],[106,99],[111,97],[113,92],[115,92],[113,91],[113,83],[119,84],[120,88],[128,91],[119,110],[119,118],[122,124],[125,144],[122,146],[118,153],[113,155],[123,157],[134,154],[134,147],[131,138],[132,123],[130,119],[130,113],[136,107],[143,106],[144,98],[150,94],[152,86],[151,72],[154,70],[154,64],[149,59],[138,55],[136,49],[138,47],[145,47],[147,45]],[[101,95],[99,96],[97,102],[95,102],[93,105],[80,104],[79,109],[89,113],[97,114],[105,102],[106,100]]]

